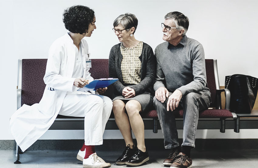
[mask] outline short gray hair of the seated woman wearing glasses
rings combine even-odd
[[[113,26],[115,27],[115,26],[118,26],[119,24],[121,24],[126,29],[126,31],[129,31],[130,28],[134,27],[134,32],[135,32],[138,25],[138,19],[132,13],[126,13],[124,15],[119,15],[115,19]]]

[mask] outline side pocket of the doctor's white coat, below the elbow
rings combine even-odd
[[[55,114],[56,103],[57,91],[45,89],[38,110],[46,117],[52,117]]]

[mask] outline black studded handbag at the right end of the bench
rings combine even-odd
[[[225,88],[230,91],[230,111],[251,113],[258,90],[258,79],[247,75],[231,75],[225,78]]]

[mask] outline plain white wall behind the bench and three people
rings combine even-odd
[[[153,50],[162,43],[161,23],[164,15],[180,11],[190,20],[187,36],[203,44],[205,57],[218,60],[220,85],[225,75],[236,73],[258,77],[258,1],[85,1],[85,0],[2,0],[1,1],[1,61],[2,89],[0,95],[0,139],[13,139],[9,118],[16,110],[17,62],[23,58],[47,58],[52,42],[67,32],[62,22],[64,9],[86,5],[95,11],[97,29],[87,38],[92,58],[108,58],[110,48],[119,43],[112,32],[112,23],[120,14],[130,12],[139,20],[135,37]],[[79,132],[64,135],[69,139]],[[217,138],[258,138],[257,130],[241,130],[239,134],[200,131],[200,137],[215,134]],[[231,131],[232,132],[232,131]],[[248,132],[248,134],[247,134]],[[47,131],[42,138],[51,138]],[[112,132],[111,132],[112,134]],[[117,134],[113,131],[113,134]],[[157,135],[150,134],[151,137]],[[109,138],[106,134],[105,138]],[[207,136],[206,136],[207,137]],[[208,136],[209,137],[209,136]],[[120,136],[121,138],[121,136]]]

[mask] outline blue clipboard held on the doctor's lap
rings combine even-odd
[[[88,85],[85,85],[83,88],[78,89],[77,91],[90,91],[97,90],[98,88],[105,88],[117,81],[116,78],[104,78],[104,79],[95,79],[91,81]]]

